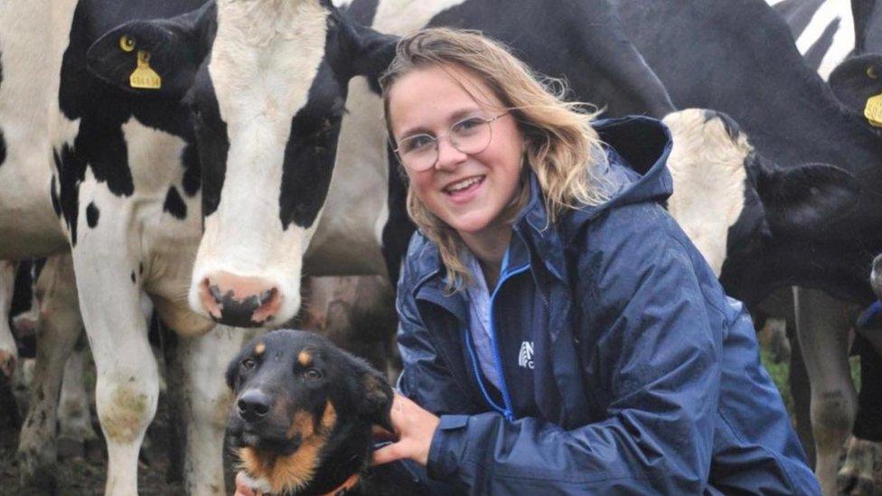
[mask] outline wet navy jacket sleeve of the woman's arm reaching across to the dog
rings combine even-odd
[[[708,322],[690,249],[677,233],[651,227],[664,217],[623,225],[635,232],[579,259],[578,270],[592,282],[574,296],[602,330],[590,338],[594,358],[586,360],[596,383],[588,388],[599,391],[592,401],[602,403],[605,418],[565,430],[495,413],[442,416],[430,476],[478,494],[706,489],[722,337]],[[422,368],[407,366],[414,365]]]

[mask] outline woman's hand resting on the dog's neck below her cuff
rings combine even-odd
[[[438,417],[398,393],[389,414],[399,440],[373,452],[372,464],[409,459],[421,465],[428,462],[428,449],[438,427]]]

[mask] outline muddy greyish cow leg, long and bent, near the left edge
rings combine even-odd
[[[39,280],[40,330],[28,414],[19,437],[23,481],[51,487],[55,482],[56,426],[64,365],[82,332],[70,257],[51,257]]]

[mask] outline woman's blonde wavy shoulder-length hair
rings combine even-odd
[[[404,75],[429,66],[441,66],[448,73],[464,69],[477,76],[511,112],[525,137],[524,163],[539,180],[550,223],[568,209],[607,199],[605,189],[597,187],[594,173],[605,163],[600,138],[591,126],[599,114],[596,107],[565,101],[567,88],[562,81],[540,77],[502,43],[478,32],[427,28],[399,41],[395,59],[380,77],[390,143],[395,141],[389,120],[389,91]],[[487,104],[486,98],[474,94],[474,85],[466,87],[461,78],[451,76],[479,105]],[[508,210],[513,212],[512,222],[529,199],[530,188],[522,181],[521,192]],[[447,269],[447,289],[453,292],[470,283],[472,276],[461,258],[464,243],[455,229],[429,211],[409,185],[407,205],[411,220],[440,251]]]

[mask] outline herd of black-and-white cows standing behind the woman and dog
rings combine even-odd
[[[821,22],[840,6],[847,14]],[[865,116],[882,93],[876,0],[7,0],[0,313],[14,262],[49,257],[39,315],[16,322],[38,340],[23,477],[52,473],[61,380],[84,328],[106,490],[136,493],[160,384],[143,294],[180,336],[183,472],[196,494],[224,491],[223,370],[249,329],[324,311],[323,291],[350,306],[317,319],[348,318],[356,332],[352,305],[394,312],[377,278],[315,280],[305,303],[301,278],[397,276],[413,226],[377,78],[395,35],[439,24],[508,43],[607,116],[664,119],[668,208],[727,292],[759,311],[776,290],[812,288],[776,313],[791,319],[811,381],[816,473],[825,493],[872,491],[882,333],[858,332],[858,396],[838,302],[877,299],[882,115]],[[389,332],[353,339],[382,350]]]

